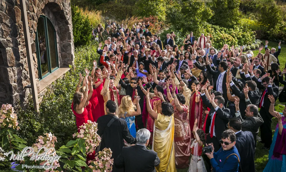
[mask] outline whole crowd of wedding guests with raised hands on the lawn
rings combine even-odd
[[[259,141],[269,150],[264,171],[285,172],[286,108],[274,109],[286,90],[279,95],[280,43],[276,51],[266,41],[265,54],[216,50],[209,36],[190,32],[178,47],[174,32],[161,41],[149,24],[98,25],[100,58],[74,94],[76,124],[98,123],[112,171],[254,172]]]

